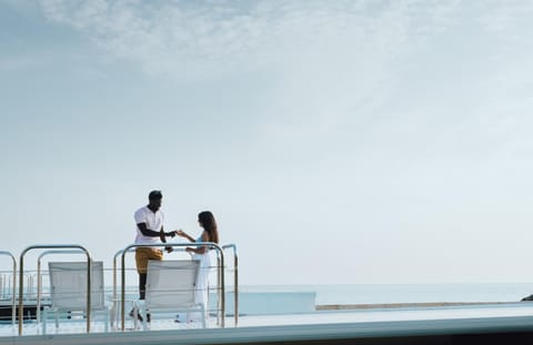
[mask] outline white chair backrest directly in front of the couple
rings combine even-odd
[[[195,305],[198,260],[148,262],[147,308],[191,307]]]

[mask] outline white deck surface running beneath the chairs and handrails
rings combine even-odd
[[[200,323],[181,324],[175,323],[171,314],[158,315],[152,319],[150,331],[143,331],[139,324],[138,328],[133,327],[133,321],[127,316],[125,332],[112,329],[107,335],[118,334],[160,334],[161,331],[173,331],[183,334],[205,333],[220,329],[215,317],[210,317],[208,323],[209,329],[201,329]],[[100,318],[101,319],[101,318]],[[351,332],[371,332],[378,329],[386,332],[386,329],[401,329],[409,332],[421,332],[424,329],[439,329],[440,327],[484,327],[490,329],[495,326],[517,327],[529,326],[533,329],[533,303],[511,303],[495,305],[474,305],[474,306],[453,306],[453,307],[425,307],[425,308],[390,308],[390,310],[355,310],[355,311],[328,311],[315,312],[309,314],[292,315],[257,315],[241,316],[238,327],[234,327],[234,318],[228,316],[225,318],[225,329],[269,329],[272,327],[290,327],[292,329],[319,329],[312,327],[321,325],[322,329],[350,329]],[[379,326],[376,326],[379,325]],[[120,326],[120,324],[119,324]],[[311,326],[311,327],[310,327]],[[325,327],[325,328],[324,328]],[[336,327],[336,328],[335,328]],[[465,329],[466,329],[465,328]],[[86,322],[83,319],[69,321],[62,319],[60,327],[56,328],[52,319],[48,322],[47,336],[42,336],[41,325],[34,321],[27,321],[23,324],[22,338],[50,338],[61,334],[84,335],[86,338],[105,336],[103,333],[103,323],[101,321],[91,324],[91,334],[86,334]],[[225,331],[222,329],[222,331]],[[38,335],[39,337],[32,337]],[[3,323],[0,325],[0,344],[21,343],[22,338],[18,336],[18,325]]]

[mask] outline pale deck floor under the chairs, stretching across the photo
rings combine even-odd
[[[247,327],[270,327],[270,326],[304,326],[304,325],[342,325],[364,327],[366,324],[415,324],[416,322],[429,321],[454,321],[467,324],[470,319],[512,319],[512,318],[531,318],[533,326],[533,303],[509,303],[495,305],[469,305],[469,306],[450,306],[450,307],[409,307],[409,308],[378,308],[378,310],[352,310],[352,311],[320,311],[308,314],[282,314],[282,315],[242,315],[239,317],[237,328]],[[208,328],[220,328],[217,317],[211,316],[208,321]],[[149,331],[181,331],[181,329],[200,329],[201,324],[195,323],[175,323],[174,315],[158,314],[152,316]],[[225,328],[235,328],[234,317],[227,316]],[[149,332],[148,331],[148,332]],[[122,333],[120,323],[109,328],[110,333]],[[129,316],[125,318],[125,332],[142,332],[142,325],[138,323],[137,328],[133,319]],[[38,324],[34,319],[24,321],[23,335],[42,335],[42,324]],[[86,321],[79,319],[61,319],[60,326],[56,328],[54,321],[49,319],[47,323],[47,335],[59,334],[84,334]],[[91,323],[91,333],[104,333],[103,317],[97,317]],[[18,325],[3,322],[0,324],[1,337],[18,336]]]

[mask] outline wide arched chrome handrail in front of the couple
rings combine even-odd
[[[190,242],[190,243],[151,243],[151,244],[130,244],[125,246],[122,250],[122,257],[121,257],[121,296],[120,296],[120,302],[121,302],[121,329],[122,332],[125,331],[125,253],[129,252],[131,248],[138,248],[138,247],[180,247],[180,246],[209,246],[209,247],[214,247],[218,253],[220,253],[220,262],[221,266],[224,266],[224,251],[222,247],[220,247],[217,243],[213,242]],[[222,270],[221,274],[221,286],[220,286],[220,293],[222,295],[222,302],[221,302],[221,312],[222,312],[222,321],[221,321],[221,327],[224,327],[224,314],[225,314],[225,292],[224,292],[224,272]]]

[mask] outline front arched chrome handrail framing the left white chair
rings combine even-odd
[[[24,273],[24,255],[31,250],[59,250],[59,248],[80,248],[87,255],[87,333],[91,331],[91,263],[92,258],[89,254],[89,251],[79,244],[39,244],[30,245],[20,254],[20,286],[19,286],[19,336],[22,335],[22,323],[23,323],[23,273]]]

